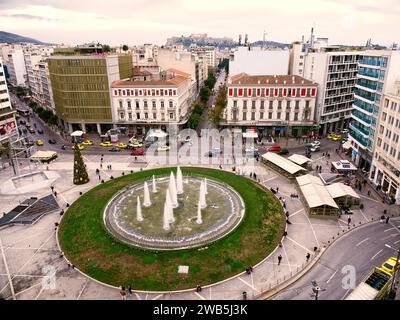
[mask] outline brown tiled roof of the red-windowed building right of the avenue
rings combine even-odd
[[[276,85],[313,85],[314,83],[310,80],[302,78],[300,76],[292,75],[265,75],[265,76],[250,76],[247,73],[239,73],[230,77],[228,84],[276,84]],[[316,85],[316,84],[315,84]]]

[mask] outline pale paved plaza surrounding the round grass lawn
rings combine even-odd
[[[57,200],[61,208],[66,209],[79,197],[80,192],[86,192],[99,184],[95,170],[99,168],[100,155],[84,155],[90,182],[76,186],[72,183],[73,155],[62,154],[53,163],[42,165],[35,170],[56,172],[59,176],[53,182],[57,191]],[[336,153],[331,154],[330,160],[339,159]],[[330,172],[326,157],[313,154],[313,167],[322,165],[323,172]],[[112,170],[106,170],[107,165]],[[20,164],[22,173],[28,172],[27,163]],[[217,165],[208,166],[215,169]],[[119,177],[122,172],[136,172],[141,169],[153,168],[143,162],[134,162],[131,156],[105,155],[101,179],[108,180],[111,176]],[[268,257],[253,266],[253,272],[246,272],[227,279],[221,283],[204,286],[202,291],[186,290],[182,292],[140,292],[135,291],[128,299],[177,299],[177,300],[210,300],[210,299],[243,299],[246,292],[248,299],[269,298],[278,290],[285,288],[302,273],[320,259],[326,247],[334,239],[349,230],[347,216],[338,221],[331,219],[309,218],[297,194],[294,183],[275,171],[256,163],[255,167],[246,165],[236,166],[240,172],[249,176],[255,172],[260,183],[267,188],[279,187],[277,197],[286,202],[290,224],[287,225],[287,235],[281,245]],[[222,170],[232,171],[232,165],[223,165]],[[316,174],[315,172],[311,172]],[[1,172],[1,183],[13,176],[10,168]],[[250,179],[250,177],[249,177]],[[362,190],[363,210],[354,210],[351,215],[350,228],[376,221],[382,215],[383,209],[388,208],[389,214],[398,215],[393,207],[382,204],[374,194],[366,195]],[[34,186],[29,194],[0,195],[2,212],[7,212],[19,202],[30,196],[42,197],[51,193],[50,188],[37,189]],[[375,198],[374,198],[375,197]],[[120,299],[119,289],[113,288],[88,278],[79,270],[68,266],[67,261],[58,249],[55,223],[60,220],[60,213],[54,212],[43,216],[34,225],[14,225],[0,229],[0,297],[3,299]],[[316,249],[316,250],[315,250]],[[306,255],[311,255],[306,261]],[[282,256],[278,265],[278,256]],[[190,269],[189,269],[190,274]],[[128,286],[129,284],[121,284]],[[131,284],[135,289],[135,284]]]

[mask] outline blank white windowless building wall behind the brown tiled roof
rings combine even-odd
[[[232,75],[242,72],[252,76],[287,75],[289,72],[289,50],[238,47],[233,54],[233,61],[229,61]]]

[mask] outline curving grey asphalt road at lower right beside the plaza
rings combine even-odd
[[[316,281],[324,289],[319,294],[319,300],[344,299],[352,290],[347,286],[349,270],[355,271],[353,284],[357,286],[373,267],[395,256],[395,252],[385,244],[399,246],[399,222],[399,217],[391,219],[388,224],[370,222],[341,236],[307,273],[279,291],[273,299],[314,300],[311,281]]]

